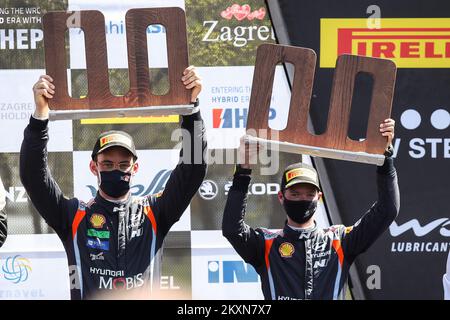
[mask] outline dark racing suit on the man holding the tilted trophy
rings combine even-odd
[[[377,169],[378,201],[350,227],[253,229],[244,222],[249,183],[249,175],[235,173],[222,232],[260,275],[266,300],[344,299],[351,264],[389,227],[400,207],[392,158]]]

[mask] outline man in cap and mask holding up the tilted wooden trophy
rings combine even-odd
[[[377,168],[378,201],[353,226],[319,229],[314,221],[322,197],[316,170],[296,163],[283,172],[278,199],[287,215],[282,230],[253,229],[244,222],[251,169],[236,166],[222,221],[222,233],[261,277],[267,300],[342,299],[350,265],[389,227],[398,214],[400,196],[391,146],[395,122],[386,119],[385,162]],[[256,150],[241,140],[241,159]],[[255,162],[250,162],[255,163]]]

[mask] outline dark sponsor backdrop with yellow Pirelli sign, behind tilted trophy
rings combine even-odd
[[[313,48],[318,68],[311,116],[326,129],[336,57],[351,53],[397,64],[393,104],[401,209],[379,241],[357,260],[370,299],[442,299],[450,246],[450,5],[448,1],[294,1],[279,6],[292,45]],[[353,110],[350,134],[363,138],[369,92]],[[369,96],[370,97],[370,96]],[[366,119],[364,121],[364,119]],[[350,224],[376,194],[374,168],[326,160],[341,218]],[[377,266],[378,268],[374,268]],[[374,270],[379,272],[374,282]]]

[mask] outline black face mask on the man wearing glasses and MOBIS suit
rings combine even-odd
[[[125,195],[130,190],[130,180],[130,172],[100,171],[100,189],[112,198]]]

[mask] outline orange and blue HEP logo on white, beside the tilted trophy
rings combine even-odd
[[[247,126],[247,108],[215,108],[212,109],[213,128],[231,129]],[[277,112],[270,108],[269,120],[275,119]]]

